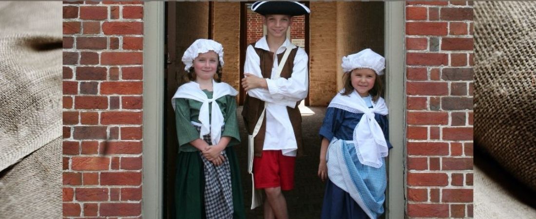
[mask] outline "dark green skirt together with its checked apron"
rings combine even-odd
[[[203,140],[210,144],[210,135],[205,135]],[[178,154],[176,218],[245,217],[239,165],[233,147],[227,147],[222,155],[224,163],[215,167],[200,152]]]

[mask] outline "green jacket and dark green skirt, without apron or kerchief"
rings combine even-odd
[[[207,90],[203,90],[203,92],[209,99],[212,98],[212,92]],[[216,103],[221,109],[225,122],[221,136],[231,138],[225,150],[231,170],[233,218],[245,218],[239,163],[233,149],[234,145],[240,144],[235,97],[230,95],[222,96],[216,100]],[[199,132],[190,122],[200,123],[198,117],[201,105],[201,102],[191,99],[178,98],[175,100],[175,122],[179,145],[175,176],[176,218],[205,218],[203,161],[197,148],[189,143],[199,138]],[[209,108],[209,112],[211,112],[212,104],[209,105]]]

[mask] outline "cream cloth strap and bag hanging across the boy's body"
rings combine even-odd
[[[277,73],[274,79],[279,78],[279,75],[281,74],[281,71],[283,70],[283,66],[287,62],[288,55],[291,53],[292,49],[294,49],[292,44],[287,46],[287,49],[285,50],[285,54],[281,58],[281,62],[279,62],[279,65],[277,67]],[[254,155],[255,136],[257,136],[260,130],[260,126],[262,126],[263,124],[265,111],[266,111],[266,102],[264,102],[263,112],[260,114],[260,117],[257,120],[257,124],[255,125],[255,129],[253,129],[253,133],[251,133],[251,135],[248,135],[248,173],[251,174],[251,184],[252,184],[251,209],[255,209],[256,207],[263,204],[262,192],[260,190],[255,189],[255,178],[253,175],[253,157],[255,156]]]

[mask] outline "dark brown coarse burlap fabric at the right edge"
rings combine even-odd
[[[474,2],[474,139],[536,190],[536,2]]]

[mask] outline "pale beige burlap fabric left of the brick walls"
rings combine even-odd
[[[0,2],[0,218],[59,218],[62,2]]]

